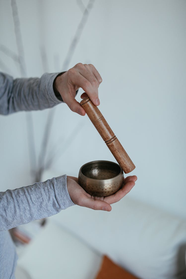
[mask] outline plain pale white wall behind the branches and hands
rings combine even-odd
[[[86,6],[88,1],[83,3]],[[17,4],[27,75],[44,72],[43,46],[47,71],[66,70],[64,57],[82,17],[77,2],[19,0]],[[78,62],[92,63],[103,78],[100,110],[136,165],[132,174],[138,181],[129,195],[184,218],[185,28],[185,1],[96,0],[69,64],[70,68]],[[0,2],[0,37],[1,44],[17,51],[11,4],[6,0]],[[20,76],[17,65],[3,52],[0,62],[1,71]],[[48,110],[33,112],[37,154],[47,114]],[[0,117],[1,191],[33,182],[25,116],[19,112]],[[56,174],[78,176],[86,162],[115,161],[88,117],[74,114],[65,104],[55,109],[48,151],[55,145],[59,152],[51,168]]]

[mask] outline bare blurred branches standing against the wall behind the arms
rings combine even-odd
[[[68,66],[70,64],[71,58],[74,54],[74,51],[76,49],[76,46],[79,42],[79,39],[81,37],[81,33],[83,31],[83,28],[87,22],[88,19],[88,15],[90,13],[90,10],[93,7],[93,3],[95,2],[95,0],[89,0],[87,7],[85,8],[83,5],[83,2],[81,0],[77,0],[77,4],[79,6],[79,8],[82,10],[83,15],[81,18],[81,21],[79,22],[79,25],[77,27],[77,30],[74,34],[74,38],[71,41],[71,44],[69,46],[69,50],[67,52],[66,58],[64,59],[64,63],[62,68],[64,70],[68,69]],[[22,41],[22,36],[21,36],[21,28],[20,28],[20,20],[19,20],[19,16],[18,16],[18,8],[17,8],[17,4],[16,4],[16,0],[11,0],[11,6],[12,6],[12,14],[13,14],[13,21],[14,21],[14,28],[15,28],[15,37],[16,37],[16,44],[17,44],[17,49],[18,49],[18,56],[13,56],[13,53],[11,53],[10,51],[7,51],[7,49],[3,49],[4,52],[6,51],[6,54],[11,54],[12,59],[16,60],[17,62],[19,62],[20,65],[20,73],[22,76],[26,76],[26,63],[25,63],[25,56],[24,56],[24,48],[23,48],[23,41]],[[2,49],[1,49],[2,50]],[[15,59],[16,58],[16,59]],[[45,52],[45,49],[42,47],[41,49],[41,58],[42,58],[42,64],[43,64],[43,68],[44,71],[48,70],[48,63],[47,63],[47,55]],[[26,115],[26,120],[27,120],[27,134],[28,134],[28,142],[29,142],[29,151],[30,151],[30,162],[31,162],[31,174],[35,174],[35,181],[39,181],[41,179],[42,176],[42,172],[46,167],[49,167],[56,154],[58,154],[59,149],[61,149],[61,144],[59,145],[60,148],[58,148],[56,151],[54,150],[52,152],[52,155],[49,156],[49,159],[47,161],[47,164],[45,165],[45,156],[47,153],[47,145],[49,142],[49,136],[51,133],[51,128],[52,128],[52,122],[54,119],[54,112],[55,109],[51,109],[48,117],[47,117],[47,123],[45,126],[45,131],[44,131],[44,135],[43,135],[43,140],[42,140],[42,146],[41,146],[41,151],[40,151],[40,155],[39,155],[39,160],[38,160],[38,168],[37,168],[37,160],[36,160],[36,154],[35,154],[35,144],[34,144],[34,138],[33,138],[33,119],[32,119],[32,115],[29,113]],[[76,126],[76,128],[73,130],[73,132],[71,133],[71,136],[67,139],[66,141],[66,148],[74,141],[74,137],[72,136],[74,133],[77,135],[78,131],[81,129],[82,125],[79,124],[78,126]],[[77,131],[76,131],[77,130]],[[56,148],[56,145],[55,145]],[[63,145],[64,148],[64,145]],[[60,153],[60,155],[62,154],[62,152]]]

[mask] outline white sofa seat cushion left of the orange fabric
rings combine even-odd
[[[18,266],[24,268],[32,279],[93,279],[100,263],[99,253],[50,219],[18,259]],[[19,275],[20,268],[16,278]]]

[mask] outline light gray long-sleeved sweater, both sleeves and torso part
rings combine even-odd
[[[41,78],[13,80],[0,73],[0,114],[41,110],[61,103],[53,91],[56,76],[44,74]],[[0,279],[15,278],[17,255],[8,229],[49,217],[72,205],[66,175],[0,192]]]

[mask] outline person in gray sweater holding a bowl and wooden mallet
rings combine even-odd
[[[66,103],[82,116],[84,109],[75,100],[83,88],[93,104],[100,104],[98,87],[102,78],[91,64],[78,63],[62,73],[45,73],[41,78],[17,78],[0,73],[0,114],[21,110],[42,110]],[[87,94],[87,95],[86,95]],[[137,177],[128,176],[117,193],[98,198],[90,196],[78,184],[77,177],[61,175],[45,182],[0,192],[0,278],[15,278],[17,255],[8,229],[49,217],[69,206],[79,205],[94,210],[110,211],[110,204],[123,198],[135,185]]]

